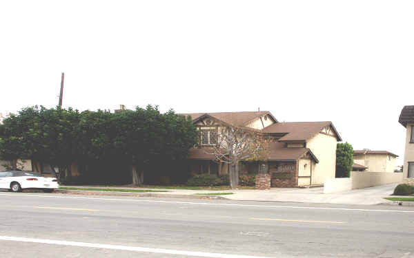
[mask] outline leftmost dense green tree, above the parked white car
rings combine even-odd
[[[71,108],[26,107],[0,126],[0,156],[50,164],[66,171],[75,160],[79,112]]]

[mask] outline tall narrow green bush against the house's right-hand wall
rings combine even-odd
[[[353,147],[348,142],[338,143],[336,151],[336,178],[349,178],[353,165]]]

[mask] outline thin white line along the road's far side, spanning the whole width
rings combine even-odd
[[[50,197],[50,198],[68,198],[68,199],[87,199],[87,200],[106,200],[106,201],[126,201],[126,202],[159,202],[171,204],[198,204],[198,205],[216,205],[216,206],[238,206],[238,207],[259,207],[259,208],[307,208],[311,210],[336,210],[336,211],[377,211],[384,213],[414,213],[414,211],[398,210],[375,210],[366,208],[326,208],[326,207],[306,207],[306,206],[276,206],[276,205],[257,205],[257,204],[217,204],[210,202],[177,202],[177,201],[155,201],[155,200],[135,200],[135,199],[117,199],[117,198],[90,198],[90,197],[72,197],[72,196],[55,196],[55,195],[24,195],[24,194],[7,194],[0,195],[22,196],[22,197]]]

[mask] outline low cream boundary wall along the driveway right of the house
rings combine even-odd
[[[331,178],[325,181],[324,193],[339,193],[383,184],[402,182],[402,173],[351,171],[351,178]]]

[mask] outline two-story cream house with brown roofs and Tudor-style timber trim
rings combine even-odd
[[[324,184],[335,178],[337,142],[342,139],[332,122],[278,122],[269,111],[181,114],[191,116],[201,131],[199,148],[190,149],[192,173],[228,173],[206,148],[216,143],[219,127],[230,125],[260,130],[270,137],[269,155],[261,162],[241,162],[241,173],[270,173],[279,187]]]

